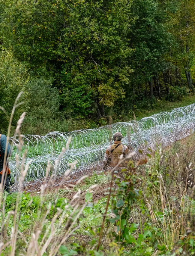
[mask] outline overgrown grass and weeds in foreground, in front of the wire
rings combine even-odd
[[[194,152],[191,135],[128,160],[120,175],[94,173],[37,195],[4,193],[1,255],[195,255]],[[108,184],[105,197],[93,200]]]

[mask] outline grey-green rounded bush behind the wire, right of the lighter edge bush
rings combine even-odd
[[[58,130],[59,95],[58,90],[52,87],[52,80],[45,76],[35,78],[31,76],[26,94],[26,117],[22,125],[22,132],[31,134],[46,134],[53,129]],[[55,123],[56,122],[56,123]]]

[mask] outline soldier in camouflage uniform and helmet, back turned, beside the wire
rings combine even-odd
[[[110,165],[110,167],[115,167],[117,164],[119,164],[120,156],[123,154],[124,157],[126,157],[129,154],[129,149],[127,146],[123,145],[122,140],[122,134],[121,133],[115,133],[113,135],[114,144],[108,146],[105,155],[104,155],[104,170],[107,170],[107,167]],[[118,165],[118,171],[120,169],[124,168],[124,161]]]

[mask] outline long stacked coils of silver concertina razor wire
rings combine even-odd
[[[23,189],[25,191],[35,191],[39,190],[41,184],[45,181],[48,161],[51,163],[48,186],[74,182],[85,174],[101,171],[104,153],[108,145],[112,143],[112,135],[115,132],[121,132],[123,135],[122,143],[139,154],[139,149],[151,148],[154,150],[159,144],[161,144],[161,147],[168,146],[174,141],[193,133],[194,128],[195,104],[192,104],[183,108],[175,108],[171,112],[161,112],[150,117],[144,117],[140,121],[120,122],[100,128],[66,133],[50,132],[45,136],[26,135],[23,136],[20,151],[17,146],[17,144],[20,144],[19,137],[12,137],[9,141],[13,147],[13,156],[10,159],[13,181],[11,190],[15,191],[19,186],[22,153],[25,150],[27,150],[27,155],[23,160],[24,164],[26,165],[30,160],[31,163]],[[69,137],[71,142],[63,156],[59,158],[62,148],[66,148]],[[15,161],[16,154],[19,157],[19,164],[16,164]],[[59,161],[56,165],[55,161],[57,159]],[[71,170],[69,179],[64,180],[64,173],[70,168],[69,163],[75,161],[77,163]]]

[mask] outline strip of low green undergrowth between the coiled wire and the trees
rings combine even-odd
[[[184,97],[181,101],[170,102],[166,100],[158,100],[156,99],[155,106],[153,109],[150,106],[149,102],[146,103],[145,106],[137,106],[134,105],[133,111],[135,112],[137,120],[140,120],[143,117],[148,117],[153,114],[157,114],[162,111],[171,111],[173,108],[184,107],[194,103],[195,96],[189,95]],[[149,107],[149,109],[148,109]],[[40,108],[40,107],[39,107]],[[113,123],[116,122],[128,122],[134,119],[133,111],[129,111],[127,114],[123,111],[119,111],[119,113],[114,113],[112,116]],[[22,125],[22,133],[23,134],[38,134],[38,135],[46,135],[52,131],[73,131],[73,130],[80,130],[80,129],[93,129],[100,126],[107,125],[109,123],[108,118],[101,118],[97,121],[93,118],[56,118],[55,114],[52,117],[44,117],[40,120],[39,116],[41,115],[39,112],[36,113],[38,117],[34,117],[34,113],[36,111],[31,111],[31,113],[27,116],[25,123]],[[51,115],[51,113],[49,113]],[[47,116],[47,115],[46,115]],[[13,128],[12,128],[13,130]]]

